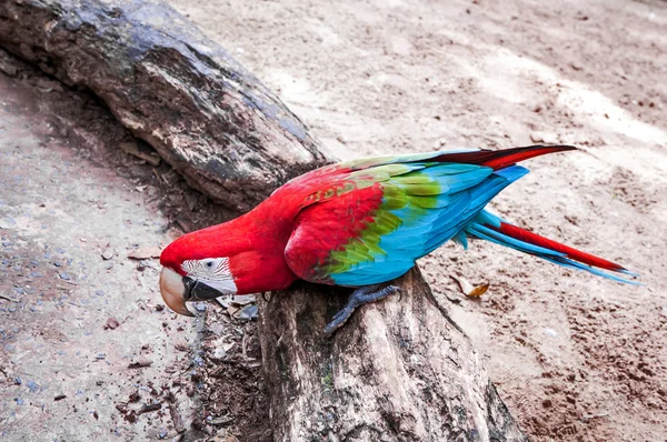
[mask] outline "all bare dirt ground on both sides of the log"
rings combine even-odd
[[[170,2],[341,159],[580,147],[492,210],[646,285],[488,243],[420,265],[532,440],[667,440],[665,2]],[[176,318],[156,261],[128,259],[219,211],[118,150],[131,138],[86,94],[29,70],[0,91],[0,439],[267,439],[252,323]],[[466,299],[452,274],[490,289]]]

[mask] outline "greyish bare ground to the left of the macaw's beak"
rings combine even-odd
[[[163,308],[151,255],[202,198],[92,97],[0,62],[0,440],[195,438],[203,324]]]

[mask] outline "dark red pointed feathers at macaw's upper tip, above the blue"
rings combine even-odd
[[[440,162],[462,162],[467,164],[479,164],[505,169],[519,161],[544,155],[546,153],[577,150],[574,145],[528,145],[525,148],[512,148],[505,150],[480,150],[477,152],[445,153],[435,160]]]

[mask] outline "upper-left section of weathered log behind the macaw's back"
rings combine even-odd
[[[2,0],[0,40],[92,90],[192,187],[235,210],[327,161],[276,96],[165,4]]]

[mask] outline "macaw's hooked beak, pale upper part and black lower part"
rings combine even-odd
[[[160,272],[160,293],[171,310],[186,317],[195,317],[186,307],[186,302],[209,301],[222,295],[218,290],[191,278],[181,277],[166,267]]]

